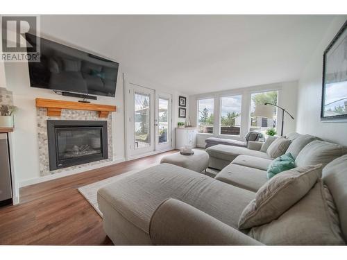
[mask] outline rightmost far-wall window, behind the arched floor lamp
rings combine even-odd
[[[251,94],[251,127],[249,130],[258,131],[265,134],[269,128],[276,129],[277,114],[276,107],[273,107],[273,117],[268,119],[266,117],[253,116],[256,105],[264,105],[264,103],[271,103],[277,105],[278,92],[262,92]]]

